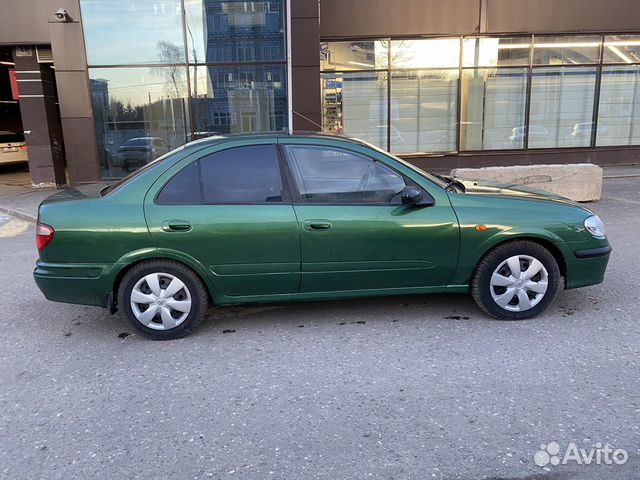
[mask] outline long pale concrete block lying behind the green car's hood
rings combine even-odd
[[[455,168],[451,175],[464,180],[526,185],[577,202],[592,202],[602,196],[602,168],[591,163]]]

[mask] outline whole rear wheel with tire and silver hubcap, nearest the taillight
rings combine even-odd
[[[118,289],[118,303],[129,323],[153,340],[189,335],[200,324],[209,303],[200,278],[171,260],[139,263]]]

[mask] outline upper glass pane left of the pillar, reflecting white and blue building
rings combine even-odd
[[[190,63],[284,61],[284,0],[185,0]]]

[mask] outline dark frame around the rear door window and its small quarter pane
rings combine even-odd
[[[216,155],[218,153],[222,153],[222,152],[228,152],[229,150],[236,150],[236,149],[241,149],[241,148],[247,148],[247,147],[264,147],[264,146],[271,146],[273,147],[273,149],[275,150],[276,153],[276,161],[277,161],[277,165],[278,165],[278,173],[280,175],[280,184],[282,186],[282,195],[281,195],[281,200],[279,202],[205,202],[205,198],[204,198],[204,183],[202,180],[202,160],[211,156],[211,155]],[[189,162],[185,162],[184,164],[180,164],[180,168],[174,172],[166,181],[164,181],[162,183],[162,186],[160,186],[158,188],[158,190],[156,191],[156,193],[153,196],[153,204],[157,205],[157,206],[162,206],[162,207],[185,207],[185,206],[196,206],[196,205],[200,205],[200,206],[231,206],[231,205],[291,205],[292,204],[292,195],[291,195],[291,191],[290,191],[290,186],[289,186],[289,182],[287,181],[286,178],[286,167],[283,164],[283,158],[280,154],[280,148],[279,145],[275,142],[268,142],[268,143],[252,143],[249,145],[234,145],[234,146],[229,146],[227,148],[221,148],[218,150],[204,150],[203,152],[198,152],[200,153],[200,155],[198,155],[197,158],[195,159],[191,159],[189,160]],[[174,179],[174,177],[176,177],[178,174],[180,174],[185,168],[189,167],[190,165],[192,165],[193,163],[197,164],[197,180],[198,180],[198,188],[199,188],[199,193],[200,193],[200,203],[160,203],[158,202],[158,196],[160,195],[160,193],[164,190],[164,188]]]

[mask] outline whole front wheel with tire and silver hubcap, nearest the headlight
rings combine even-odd
[[[535,317],[555,299],[562,275],[542,245],[517,240],[500,245],[480,261],[471,283],[478,306],[501,320]]]

